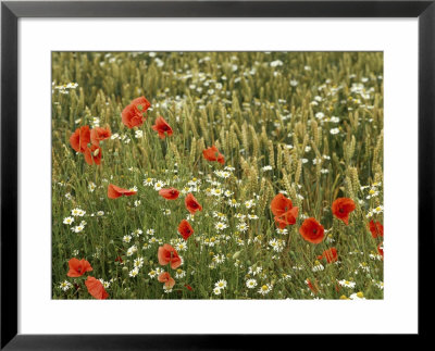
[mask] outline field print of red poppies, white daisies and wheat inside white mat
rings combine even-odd
[[[383,299],[382,52],[53,52],[53,299]]]

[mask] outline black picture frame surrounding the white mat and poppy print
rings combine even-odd
[[[434,258],[435,1],[4,1],[1,3],[1,349],[257,349],[288,342],[265,335],[17,334],[17,21],[20,17],[418,17],[419,334],[428,335]],[[407,204],[403,199],[403,206]],[[406,283],[403,283],[406,284]],[[44,316],[41,316],[44,323]],[[375,322],[375,321],[374,321]],[[427,323],[427,324],[426,324]],[[302,337],[302,336],[299,336]],[[306,336],[304,339],[312,336]],[[360,336],[361,337],[361,336]],[[272,339],[273,338],[273,339]],[[359,337],[358,337],[359,339]],[[413,338],[412,338],[413,339]],[[167,342],[171,340],[171,342]],[[308,340],[307,340],[308,341]],[[412,342],[414,342],[413,340]],[[358,341],[355,339],[352,344]],[[314,344],[313,344],[314,346]],[[415,344],[413,344],[415,347]],[[327,347],[326,344],[319,347]],[[368,346],[369,347],[369,346]]]

